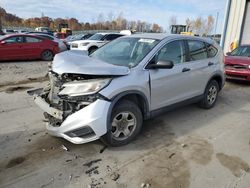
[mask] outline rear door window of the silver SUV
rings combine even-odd
[[[207,48],[204,42],[188,40],[189,56],[191,61],[207,58]]]

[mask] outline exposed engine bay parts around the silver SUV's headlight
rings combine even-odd
[[[74,112],[88,106],[97,99],[105,99],[105,97],[98,94],[96,91],[101,88],[94,89],[92,93],[72,94],[63,92],[65,85],[70,83],[72,85],[79,83],[92,83],[101,80],[111,80],[111,76],[94,76],[94,75],[82,75],[82,74],[62,74],[59,75],[53,71],[49,72],[49,84],[43,88],[39,94],[52,108],[55,108],[62,112],[62,118],[56,118],[47,112],[44,112],[45,119],[53,126],[58,127],[61,123]],[[69,84],[68,84],[69,85]],[[77,86],[76,86],[77,87]],[[107,99],[105,99],[107,100]]]

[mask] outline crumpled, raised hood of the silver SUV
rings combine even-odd
[[[65,51],[57,54],[52,62],[52,71],[57,74],[73,73],[86,75],[127,75],[128,67],[108,64],[91,58],[82,51]]]

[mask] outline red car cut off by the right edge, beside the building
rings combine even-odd
[[[228,79],[250,81],[250,45],[239,46],[225,57]]]

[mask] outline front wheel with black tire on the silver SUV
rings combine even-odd
[[[126,117],[124,119],[123,114],[126,113],[128,115],[124,115]],[[135,121],[133,121],[133,118]],[[118,147],[130,143],[136,138],[141,131],[143,118],[141,110],[135,103],[124,100],[114,107],[111,119],[108,122],[110,123],[108,125],[110,126],[110,130],[108,130],[101,140],[109,146]],[[135,122],[134,126],[132,122]],[[130,133],[128,134],[126,130],[129,130]]]

